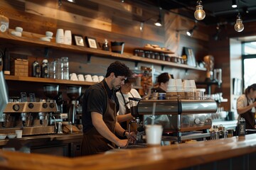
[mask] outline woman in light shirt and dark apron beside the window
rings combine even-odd
[[[255,125],[255,107],[256,107],[256,84],[252,84],[245,89],[237,101],[238,121],[245,118],[246,129],[256,129]]]

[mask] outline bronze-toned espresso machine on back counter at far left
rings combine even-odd
[[[57,113],[55,102],[9,102],[1,113],[0,133],[22,129],[23,135],[42,135],[55,133],[55,125],[49,118]]]

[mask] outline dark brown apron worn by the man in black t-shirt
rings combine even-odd
[[[102,88],[105,89],[103,82],[101,82]],[[107,90],[105,89],[105,95],[107,97],[107,109],[102,115],[102,119],[110,129],[112,133],[115,132],[115,123],[117,119],[116,103],[107,96]],[[111,148],[107,145],[110,144],[114,147],[114,143],[102,137],[96,128],[84,132],[82,139],[82,155],[97,154],[106,152]]]

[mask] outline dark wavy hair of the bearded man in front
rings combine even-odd
[[[130,77],[132,74],[129,67],[119,61],[113,62],[110,64],[109,67],[107,67],[106,77],[109,77],[112,72],[114,73],[115,77]]]

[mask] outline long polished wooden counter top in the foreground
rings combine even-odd
[[[181,169],[254,152],[256,134],[73,159],[0,150],[0,169]]]

